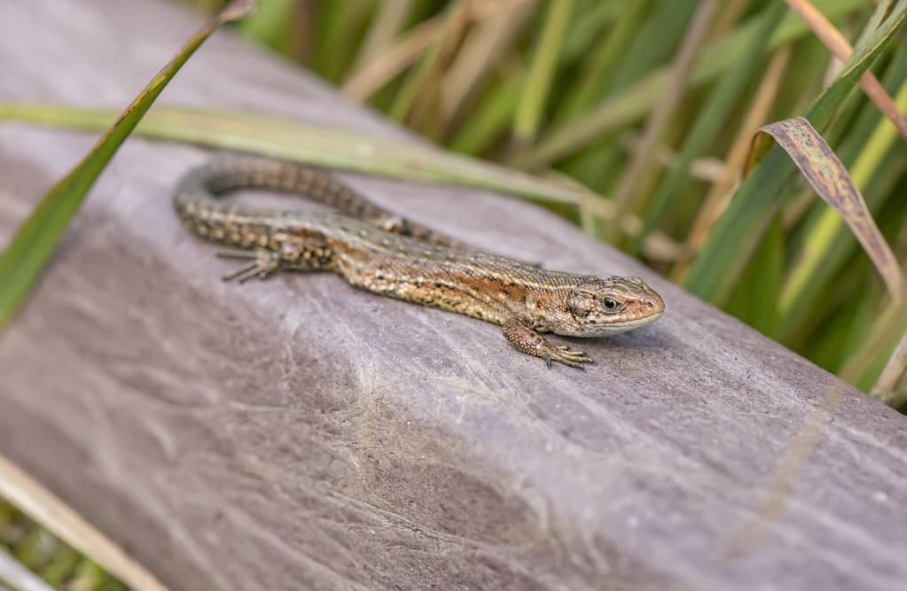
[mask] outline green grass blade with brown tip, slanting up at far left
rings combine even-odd
[[[94,181],[174,74],[220,24],[249,15],[254,6],[254,0],[237,0],[202,26],[171,63],[164,66],[135,101],[122,111],[93,150],[44,196],[32,215],[25,220],[0,255],[0,329],[24,304]]]

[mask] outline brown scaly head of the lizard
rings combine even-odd
[[[624,333],[650,325],[665,312],[664,300],[639,277],[590,277],[571,291],[567,305],[571,336]]]

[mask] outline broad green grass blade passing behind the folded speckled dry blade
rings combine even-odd
[[[881,27],[869,35],[844,65],[834,82],[806,111],[814,128],[824,129],[853,90],[860,76],[882,53],[907,15],[907,0],[901,0]],[[737,190],[724,216],[687,276],[688,290],[713,303],[723,303],[753,251],[777,205],[775,195],[795,170],[785,151],[775,146],[766,159]]]

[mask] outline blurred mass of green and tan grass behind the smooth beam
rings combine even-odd
[[[841,64],[784,3],[708,4],[260,0],[237,28],[451,150],[577,179],[610,206],[552,208],[640,257],[645,235],[667,234],[647,264],[868,390],[904,320],[848,228],[790,162],[732,198],[758,126],[824,110],[811,121],[907,260],[903,140],[853,81],[823,95]],[[872,33],[871,0],[813,4],[854,46]],[[900,37],[872,71],[904,111]]]

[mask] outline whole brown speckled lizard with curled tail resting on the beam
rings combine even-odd
[[[237,189],[295,193],[334,211],[254,208],[219,199]],[[598,337],[650,325],[664,300],[637,276],[550,271],[463,244],[400,218],[327,170],[266,157],[224,155],[190,170],[173,205],[190,231],[246,259],[225,280],[281,271],[328,271],[378,295],[502,326],[524,354],[582,368],[581,351],[543,333]]]

